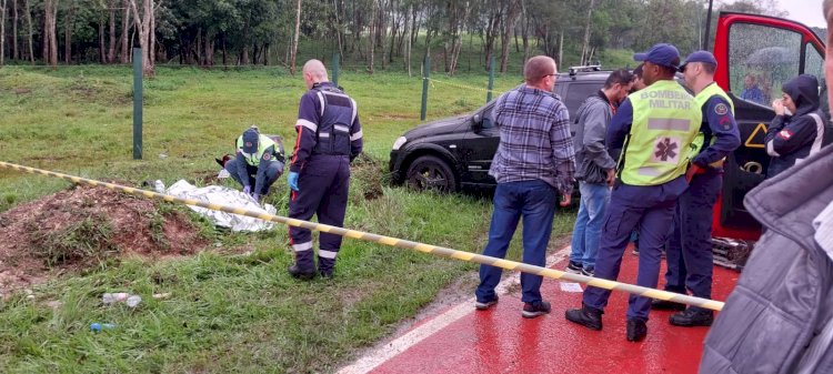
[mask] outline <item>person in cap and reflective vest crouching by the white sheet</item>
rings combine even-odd
[[[260,202],[260,198],[269,193],[272,183],[283,174],[283,163],[281,148],[252,127],[238,138],[237,158],[229,160],[224,168],[243,186],[243,193]]]

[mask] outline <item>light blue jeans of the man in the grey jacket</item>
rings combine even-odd
[[[610,189],[606,184],[579,183],[581,201],[579,216],[573,228],[570,261],[579,262],[584,269],[595,266],[595,254],[599,251],[599,240],[602,234],[604,213],[610,203]]]

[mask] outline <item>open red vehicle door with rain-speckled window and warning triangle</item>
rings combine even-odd
[[[722,12],[714,43],[715,81],[732,98],[741,148],[725,163],[723,191],[714,209],[713,236],[757,240],[760,224],[743,206],[746,192],[766,175],[770,156],[763,139],[775,117],[772,101],[781,84],[799,74],[821,83],[823,112],[829,113],[824,82],[824,43],[810,28],[789,20]]]

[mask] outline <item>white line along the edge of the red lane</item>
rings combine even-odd
[[[546,259],[546,267],[550,267],[562,260],[566,259],[570,255],[570,246],[566,246],[565,249],[555,252],[548,256]],[[495,292],[499,295],[505,295],[510,287],[520,284],[521,283],[521,273],[516,272],[513,276],[508,277],[503,280],[500,284],[498,284],[498,287],[495,289]],[[474,297],[471,300],[463,302],[446,312],[433,317],[431,321],[420,325],[419,327],[415,327],[404,335],[397,337],[392,342],[385,344],[384,346],[381,346],[379,348],[373,350],[373,352],[370,352],[369,354],[364,355],[363,357],[359,358],[353,364],[342,367],[338,373],[339,374],[363,374],[368,373],[380,365],[384,364],[389,360],[398,356],[400,353],[405,352],[411,346],[416,345],[418,343],[422,342],[423,340],[430,337],[438,331],[445,328],[446,326],[451,325],[452,323],[456,322],[458,320],[462,319],[463,316],[469,315],[470,313],[474,312]]]

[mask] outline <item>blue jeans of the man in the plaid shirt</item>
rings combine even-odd
[[[546,264],[546,244],[552,232],[558,193],[544,181],[498,183],[494,192],[494,211],[489,228],[489,243],[483,255],[503,259],[509,243],[523,218],[523,262],[530,265]],[[494,300],[494,287],[503,270],[490,265],[480,266],[480,285],[474,294],[479,302]],[[541,301],[541,275],[521,274],[524,303]]]

